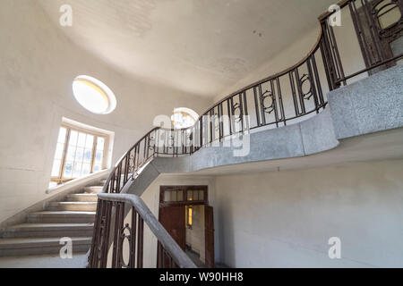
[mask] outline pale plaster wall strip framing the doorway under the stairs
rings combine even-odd
[[[152,182],[150,187],[145,190],[141,198],[145,204],[150,207],[151,212],[159,217],[159,187],[160,186],[208,186],[209,203],[214,206],[215,201],[215,180],[212,177],[200,177],[192,175],[172,175],[161,174]],[[218,223],[217,214],[214,212],[214,223]],[[215,233],[217,237],[217,228]],[[218,245],[216,243],[216,255],[218,253]],[[204,257],[204,255],[203,255]],[[144,267],[155,267],[157,264],[157,240],[147,226],[144,226]]]

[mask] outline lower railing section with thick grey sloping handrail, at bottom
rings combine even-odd
[[[112,268],[142,268],[144,223],[158,240],[159,268],[196,268],[138,196],[99,194],[97,214],[90,268],[106,268],[107,265]],[[124,241],[127,242],[126,249]],[[124,257],[124,250],[127,257]]]

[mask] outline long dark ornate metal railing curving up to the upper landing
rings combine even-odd
[[[203,146],[236,134],[265,126],[279,128],[308,114],[319,114],[327,106],[326,92],[347,85],[348,80],[364,72],[371,74],[386,69],[403,57],[393,55],[385,44],[401,37],[403,18],[386,28],[378,19],[382,11],[385,13],[385,6],[399,9],[400,15],[403,14],[402,1],[391,0],[391,5],[384,0],[344,0],[339,3],[340,11],[351,15],[364,69],[345,74],[338,46],[341,43],[329,21],[337,12],[323,13],[319,17],[319,37],[304,59],[220,100],[202,114],[193,127],[150,130],[118,161],[103,192],[121,192],[154,157],[192,155]],[[286,105],[291,108],[286,109]],[[97,213],[97,219],[99,215]],[[97,235],[93,240],[96,240],[93,246],[97,247]]]

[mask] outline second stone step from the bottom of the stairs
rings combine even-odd
[[[93,223],[21,223],[0,233],[2,238],[91,237]]]

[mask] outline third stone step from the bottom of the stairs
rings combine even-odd
[[[28,223],[94,223],[96,212],[45,211],[28,214]]]

